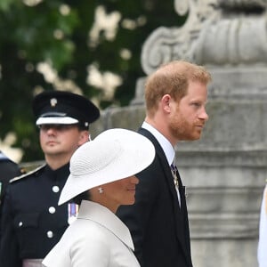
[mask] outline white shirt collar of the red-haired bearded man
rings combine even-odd
[[[145,121],[142,123],[142,128],[148,130],[151,134],[154,135],[166,155],[168,164],[171,166],[175,156],[175,150],[171,142],[169,142],[163,134],[159,133],[156,128]]]

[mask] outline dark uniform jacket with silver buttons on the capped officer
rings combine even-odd
[[[43,259],[69,226],[69,204],[58,206],[69,164],[53,171],[41,166],[12,180],[3,207],[1,267],[21,267],[23,259]]]

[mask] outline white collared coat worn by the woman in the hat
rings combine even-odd
[[[44,258],[47,267],[140,267],[130,231],[105,206],[83,200],[77,220]]]

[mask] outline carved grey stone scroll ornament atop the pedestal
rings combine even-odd
[[[160,27],[142,49],[142,69],[149,75],[173,60],[202,65],[267,63],[267,0],[175,0],[181,28]],[[246,12],[246,15],[244,13]]]

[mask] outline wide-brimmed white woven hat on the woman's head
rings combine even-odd
[[[120,128],[102,132],[70,158],[70,174],[59,205],[85,190],[141,172],[154,157],[154,145],[142,134]]]

